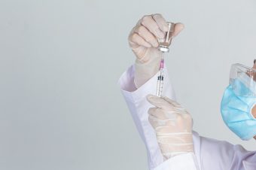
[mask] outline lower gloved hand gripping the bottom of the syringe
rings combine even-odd
[[[148,110],[160,150],[165,159],[182,153],[194,152],[192,118],[177,102],[167,97],[148,95],[148,102],[156,106]]]

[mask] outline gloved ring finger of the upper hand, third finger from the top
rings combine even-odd
[[[152,47],[158,47],[157,38],[155,38],[154,35],[145,28],[145,26],[138,26],[134,32],[145,39],[145,41],[151,44]]]

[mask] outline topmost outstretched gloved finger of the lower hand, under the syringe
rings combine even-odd
[[[156,106],[157,108],[162,108],[164,111],[173,111],[173,105],[167,102],[165,99],[154,95],[147,96],[148,102],[152,105]]]

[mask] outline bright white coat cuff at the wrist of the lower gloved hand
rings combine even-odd
[[[199,170],[194,153],[184,153],[167,159],[153,170]]]

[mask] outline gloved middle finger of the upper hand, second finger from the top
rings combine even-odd
[[[156,21],[151,15],[142,17],[141,25],[145,26],[157,38],[164,38],[164,33],[160,30],[159,26],[157,26]]]

